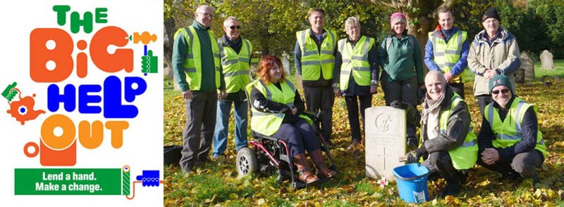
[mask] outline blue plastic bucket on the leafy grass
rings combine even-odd
[[[427,177],[429,169],[419,163],[410,163],[393,168],[393,175],[398,182],[400,198],[408,203],[429,201],[427,196]]]

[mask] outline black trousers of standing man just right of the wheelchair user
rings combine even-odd
[[[331,87],[310,88],[304,87],[305,105],[309,112],[317,113],[321,111],[320,120],[317,126],[321,124],[321,135],[326,140],[331,140],[331,132],[333,131],[333,102],[335,94]]]

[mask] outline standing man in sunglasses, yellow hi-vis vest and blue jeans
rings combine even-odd
[[[227,147],[229,112],[233,104],[235,114],[235,149],[247,147],[247,97],[245,86],[250,83],[249,69],[252,45],[240,36],[241,26],[235,17],[223,21],[223,37],[217,41],[221,53],[221,79],[226,84],[226,97],[217,102],[216,128],[214,132],[213,159],[223,158]]]

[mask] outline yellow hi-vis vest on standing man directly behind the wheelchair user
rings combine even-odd
[[[316,81],[323,70],[323,79],[333,79],[333,67],[335,67],[335,33],[326,29],[327,36],[321,42],[321,51],[317,51],[317,44],[309,36],[309,29],[296,32],[300,51],[302,53],[302,80]]]

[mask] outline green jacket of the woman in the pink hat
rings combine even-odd
[[[424,84],[423,59],[417,38],[411,36],[413,45],[410,44],[410,34],[404,34],[401,39],[395,35],[388,35],[384,38],[378,48],[380,66],[388,74],[388,80],[382,81],[403,81],[417,76],[417,84]],[[386,39],[392,39],[390,47],[386,48]]]

